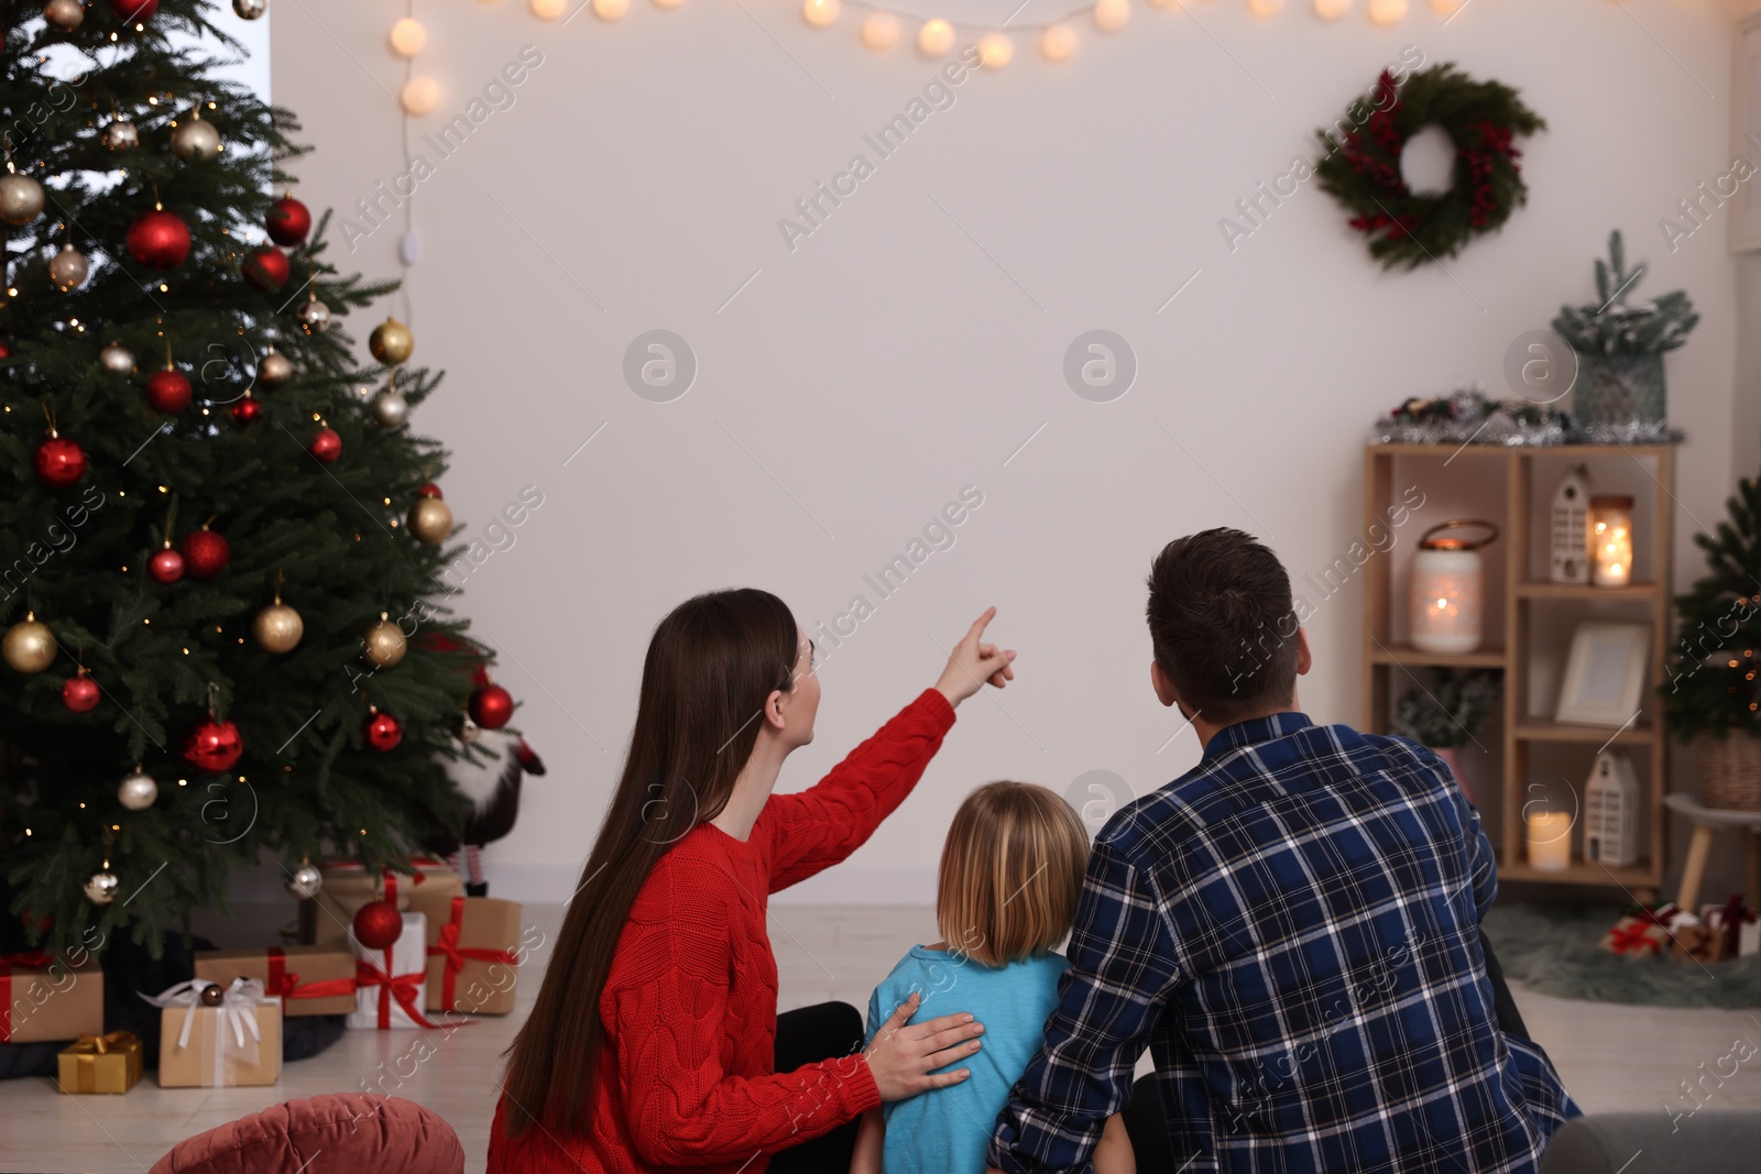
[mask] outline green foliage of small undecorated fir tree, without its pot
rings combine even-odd
[[[1761,479],[1736,482],[1728,509],[1713,533],[1694,535],[1706,576],[1675,598],[1678,644],[1662,697],[1682,741],[1761,736]]]

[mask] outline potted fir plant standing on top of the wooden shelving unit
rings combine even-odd
[[[1699,315],[1682,290],[1627,301],[1643,276],[1643,262],[1627,269],[1615,229],[1608,262],[1595,262],[1595,301],[1560,306],[1553,319],[1553,329],[1578,354],[1573,415],[1592,438],[1597,429],[1622,429],[1625,440],[1668,438],[1662,356],[1687,341]]]

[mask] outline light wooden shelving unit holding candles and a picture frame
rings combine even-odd
[[[1664,679],[1664,657],[1669,632],[1669,553],[1671,553],[1671,517],[1675,489],[1675,449],[1669,445],[1558,445],[1558,447],[1499,447],[1499,445],[1416,445],[1416,444],[1372,444],[1365,449],[1365,528],[1388,525],[1386,509],[1395,502],[1395,468],[1400,463],[1416,481],[1423,481],[1426,470],[1433,475],[1449,470],[1455,479],[1472,479],[1497,491],[1502,488],[1502,517],[1486,514],[1499,521],[1504,542],[1504,576],[1499,581],[1488,574],[1486,595],[1502,597],[1504,623],[1486,630],[1486,648],[1465,655],[1421,653],[1409,644],[1396,642],[1395,613],[1405,609],[1405,570],[1407,563],[1396,560],[1395,551],[1416,546],[1418,533],[1426,523],[1407,523],[1396,547],[1386,556],[1372,558],[1365,565],[1363,591],[1363,709],[1365,729],[1388,732],[1391,716],[1391,699],[1395,697],[1395,679],[1400,674],[1419,679],[1425,669],[1499,669],[1504,672],[1504,734],[1500,746],[1502,774],[1497,780],[1499,818],[1488,825],[1495,833],[1499,850],[1499,875],[1507,880],[1571,884],[1571,885],[1618,885],[1634,896],[1652,898],[1662,884],[1664,873],[1664,804],[1668,792],[1668,750],[1669,739],[1662,725],[1662,711],[1657,704],[1657,686]],[[1599,588],[1574,583],[1550,583],[1546,565],[1534,558],[1530,551],[1532,523],[1544,517],[1544,505],[1551,500],[1553,484],[1541,486],[1543,498],[1536,498],[1536,463],[1537,461],[1587,463],[1592,468],[1599,461],[1638,463],[1645,470],[1643,486],[1650,491],[1652,509],[1645,532],[1639,539],[1648,549],[1648,579],[1624,588]],[[1620,468],[1625,468],[1622,465]],[[1639,500],[1639,493],[1632,495]],[[1648,533],[1647,533],[1648,532]],[[1543,532],[1544,537],[1544,532]],[[1645,563],[1639,563],[1645,569]],[[1396,574],[1398,569],[1398,574]],[[1641,699],[1638,720],[1624,729],[1599,725],[1566,725],[1551,720],[1551,699],[1530,697],[1530,672],[1536,665],[1537,613],[1546,607],[1550,625],[1558,623],[1560,614],[1580,613],[1569,620],[1583,618],[1588,604],[1620,604],[1622,618],[1645,620],[1652,628],[1650,664],[1647,665],[1647,693]],[[1576,607],[1574,607],[1576,605]],[[1560,665],[1562,667],[1562,665]],[[1534,711],[1534,702],[1541,704],[1541,713]],[[1523,848],[1523,803],[1530,783],[1532,757],[1539,753],[1564,753],[1573,760],[1581,759],[1576,778],[1566,783],[1578,797],[1581,810],[1581,785],[1590,771],[1595,753],[1604,746],[1624,746],[1634,762],[1648,767],[1643,774],[1647,843],[1645,859],[1629,868],[1611,868],[1581,855],[1581,829],[1574,827],[1573,862],[1566,871],[1541,871],[1529,864]],[[1488,780],[1483,780],[1483,785]]]

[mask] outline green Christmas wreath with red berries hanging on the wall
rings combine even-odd
[[[1368,106],[1367,118],[1351,109]],[[1529,201],[1511,139],[1546,128],[1516,90],[1499,81],[1474,81],[1453,62],[1412,74],[1398,86],[1388,70],[1367,99],[1352,102],[1342,136],[1319,132],[1331,151],[1315,165],[1321,187],[1352,213],[1351,227],[1370,239],[1370,255],[1384,268],[1416,269],[1453,257],[1479,236],[1504,225],[1511,209]],[[1423,127],[1437,125],[1455,143],[1455,181],[1440,194],[1419,195],[1400,176],[1400,151]]]

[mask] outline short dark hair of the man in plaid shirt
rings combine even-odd
[[[1150,644],[1189,709],[1229,725],[1291,704],[1296,614],[1291,577],[1240,530],[1175,539],[1150,565]]]

